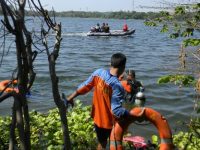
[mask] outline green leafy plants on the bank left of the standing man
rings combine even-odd
[[[90,117],[91,107],[82,106],[79,100],[67,114],[70,139],[76,150],[95,149],[96,133],[93,128],[93,121]],[[11,117],[0,117],[0,149],[8,149]],[[49,110],[47,114],[36,111],[30,112],[31,147],[32,149],[63,149],[63,135],[58,109]],[[17,143],[19,135],[17,132]]]

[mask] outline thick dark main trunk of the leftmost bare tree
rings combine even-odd
[[[18,62],[18,88],[20,91],[20,100],[22,103],[22,110],[24,115],[24,129],[25,129],[25,143],[27,149],[30,149],[30,125],[29,125],[29,112],[26,100],[27,85],[28,85],[28,61],[26,54],[26,45],[24,42],[22,27],[24,27],[23,19],[16,20],[16,49],[17,49],[17,62]]]

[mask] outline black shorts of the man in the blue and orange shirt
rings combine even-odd
[[[107,139],[110,138],[112,129],[99,128],[96,124],[94,124],[94,127],[99,143],[107,142]]]

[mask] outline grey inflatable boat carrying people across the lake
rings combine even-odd
[[[110,30],[109,33],[106,32],[88,32],[87,36],[127,36],[132,35],[135,32],[135,29],[129,29],[128,31],[123,30]]]

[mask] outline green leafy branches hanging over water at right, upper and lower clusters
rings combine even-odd
[[[197,85],[196,89],[199,90],[198,79],[195,77],[199,73],[196,70],[199,70],[200,64],[200,3],[181,5],[175,7],[173,12],[162,11],[160,13],[162,17],[144,23],[147,26],[159,26],[160,32],[169,33],[172,39],[182,39],[179,55],[182,70],[179,72],[187,74],[167,75],[160,78],[158,83],[173,82],[181,86]],[[196,60],[195,63],[194,60]]]

